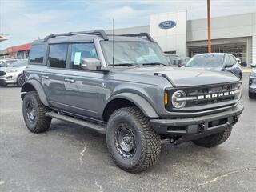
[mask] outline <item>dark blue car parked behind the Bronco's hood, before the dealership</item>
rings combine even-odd
[[[196,67],[203,70],[227,70],[242,79],[242,69],[237,59],[232,54],[196,54],[185,67]]]

